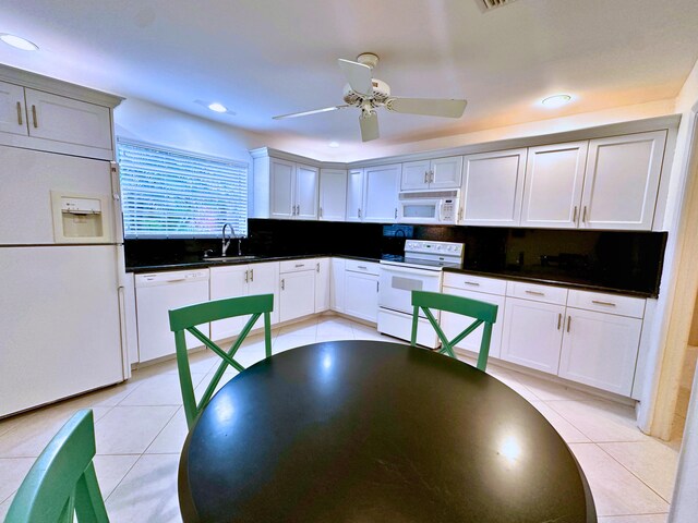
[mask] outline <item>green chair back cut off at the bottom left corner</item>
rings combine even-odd
[[[92,410],[77,411],[37,458],[12,500],[5,523],[109,523],[92,462]]]

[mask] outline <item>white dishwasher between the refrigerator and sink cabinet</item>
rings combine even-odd
[[[208,269],[148,272],[135,276],[139,361],[174,354],[174,335],[168,312],[208,301]],[[206,336],[209,324],[198,326]],[[202,343],[186,333],[186,346]],[[131,362],[134,363],[134,362]]]

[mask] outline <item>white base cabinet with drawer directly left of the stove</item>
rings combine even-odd
[[[347,260],[345,313],[368,321],[378,320],[378,264]]]

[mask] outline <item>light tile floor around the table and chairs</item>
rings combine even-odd
[[[273,351],[341,339],[397,341],[371,327],[322,316],[276,329]],[[260,336],[250,338],[239,353],[243,365],[263,356]],[[217,361],[206,352],[192,355],[200,393]],[[492,360],[488,372],[527,399],[568,442],[587,474],[601,523],[666,521],[676,442],[640,433],[629,406],[497,367]],[[186,424],[173,361],[135,370],[125,384],[1,421],[0,520],[48,440],[76,409],[87,406],[95,412],[95,466],[111,521],[181,521],[177,466]]]

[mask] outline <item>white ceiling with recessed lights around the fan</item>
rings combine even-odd
[[[697,0],[2,0],[0,62],[237,127],[360,142],[358,110],[276,121],[342,104],[337,58],[381,57],[393,94],[469,101],[459,120],[380,113],[406,143],[673,98],[698,58]],[[537,102],[569,93],[574,104]],[[195,100],[220,101],[236,115]]]

